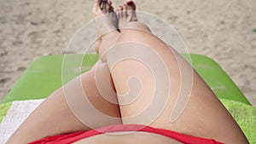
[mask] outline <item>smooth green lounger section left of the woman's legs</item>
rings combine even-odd
[[[66,77],[71,80],[78,76],[83,69],[84,72],[90,70],[91,66],[98,60],[97,55],[65,55],[66,66],[68,66]],[[49,55],[35,60],[31,66],[26,69],[26,72],[21,76],[9,94],[1,103],[9,101],[22,101],[33,99],[44,99],[55,89],[62,85],[61,71],[64,55]],[[83,59],[82,66],[76,66]]]

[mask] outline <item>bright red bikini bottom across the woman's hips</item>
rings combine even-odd
[[[108,127],[103,127],[96,130],[74,132],[66,135],[49,136],[44,139],[30,142],[29,144],[67,144],[75,141],[82,140],[84,138],[101,135],[104,133],[113,133],[120,131],[142,131],[148,133],[154,133],[158,135],[165,135],[173,140],[183,142],[185,144],[222,144],[221,142],[205,139],[201,137],[195,137],[190,135],[183,135],[171,130],[155,129],[149,126],[137,125],[137,124],[119,124]]]

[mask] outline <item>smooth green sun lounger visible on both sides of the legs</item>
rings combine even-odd
[[[240,101],[250,105],[247,98],[237,88],[236,84],[222,70],[218,64],[203,55],[183,55],[185,59],[192,60],[192,66],[201,75],[201,77],[211,87],[212,91],[218,98]],[[61,70],[64,55],[44,56],[32,63],[26,69],[20,80],[15,84],[9,94],[1,103],[9,101],[22,101],[33,99],[44,99],[55,89],[61,87]],[[81,72],[86,72],[98,60],[97,55],[65,55],[65,66],[68,67],[66,72],[67,79],[78,76]],[[74,63],[81,62],[80,66]],[[79,71],[82,69],[82,71]],[[66,81],[68,81],[66,79]]]

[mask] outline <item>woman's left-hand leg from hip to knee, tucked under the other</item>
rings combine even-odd
[[[106,6],[105,3],[104,9],[106,9]],[[102,37],[102,42],[105,42],[105,37]],[[97,73],[101,77],[97,77]],[[82,89],[78,89],[79,87]],[[74,78],[71,82],[49,95],[26,118],[25,122],[20,125],[20,128],[15,131],[15,134],[10,137],[7,143],[21,144],[49,135],[90,130],[97,126],[100,127],[109,124],[121,124],[119,106],[113,103],[113,101],[117,101],[116,95],[113,94],[111,89],[107,89],[107,93],[113,95],[104,95],[104,97],[101,95],[101,91],[106,93],[106,89],[104,89],[106,87],[113,87],[108,66],[104,63],[97,62],[92,70],[85,72],[78,78]],[[84,96],[87,97],[88,101],[84,101],[86,100]],[[82,112],[81,115],[77,111],[78,109],[76,109],[77,105],[74,103],[76,101],[84,101],[82,104],[88,102],[92,107],[89,105],[79,106],[79,112]],[[88,110],[91,108],[93,108],[93,111]],[[94,112],[102,114],[102,118],[96,117],[96,113]],[[106,119],[106,117],[110,118]],[[87,122],[89,123],[88,125]],[[94,125],[90,124],[90,122],[94,123]]]

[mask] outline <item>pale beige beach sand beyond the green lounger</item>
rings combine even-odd
[[[113,0],[115,7],[124,2]],[[183,37],[189,53],[216,60],[256,106],[255,0],[135,2],[137,10],[154,14],[172,25]],[[75,32],[92,20],[93,0],[0,0],[0,3],[2,100],[32,61],[64,53]],[[159,32],[164,31],[159,28]],[[86,39],[84,43],[88,43]],[[82,50],[73,49],[70,53],[79,54]]]

